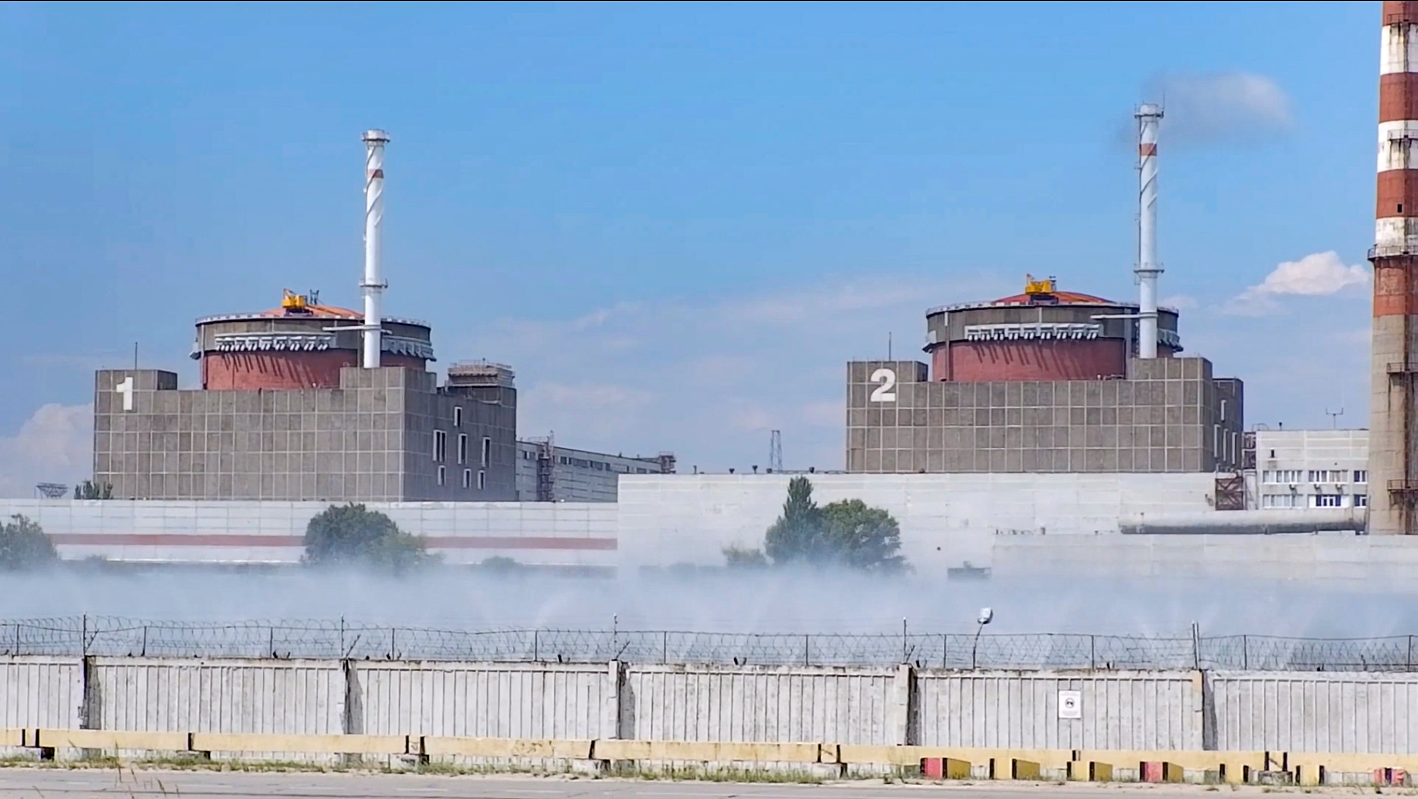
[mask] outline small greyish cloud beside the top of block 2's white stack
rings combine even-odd
[[[1171,143],[1256,142],[1295,125],[1285,89],[1254,72],[1164,75],[1147,96],[1166,103],[1163,152]]]

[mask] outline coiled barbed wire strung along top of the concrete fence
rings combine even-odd
[[[523,663],[896,666],[922,669],[1235,669],[1414,672],[1418,636],[1081,633],[715,633],[458,630],[339,620],[200,623],[116,616],[0,620],[0,656],[275,657]]]

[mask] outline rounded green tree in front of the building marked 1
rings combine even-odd
[[[404,533],[393,518],[363,504],[330,506],[305,526],[303,561],[309,565],[404,572],[435,560],[423,538]]]

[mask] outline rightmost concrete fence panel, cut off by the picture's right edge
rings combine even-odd
[[[1418,674],[1214,672],[1217,749],[1407,754],[1418,747]]]

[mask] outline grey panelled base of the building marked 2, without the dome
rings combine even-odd
[[[1244,387],[1205,358],[1127,363],[1130,377],[939,382],[917,361],[848,364],[847,469],[1217,472],[1239,469]]]

